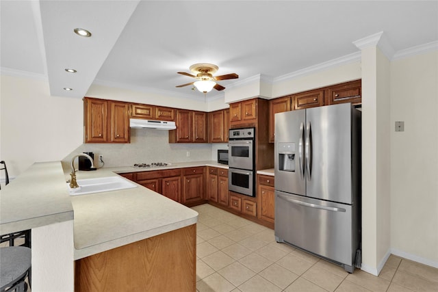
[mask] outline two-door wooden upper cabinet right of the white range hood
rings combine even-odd
[[[207,143],[207,113],[177,109],[177,129],[169,131],[169,143]]]

